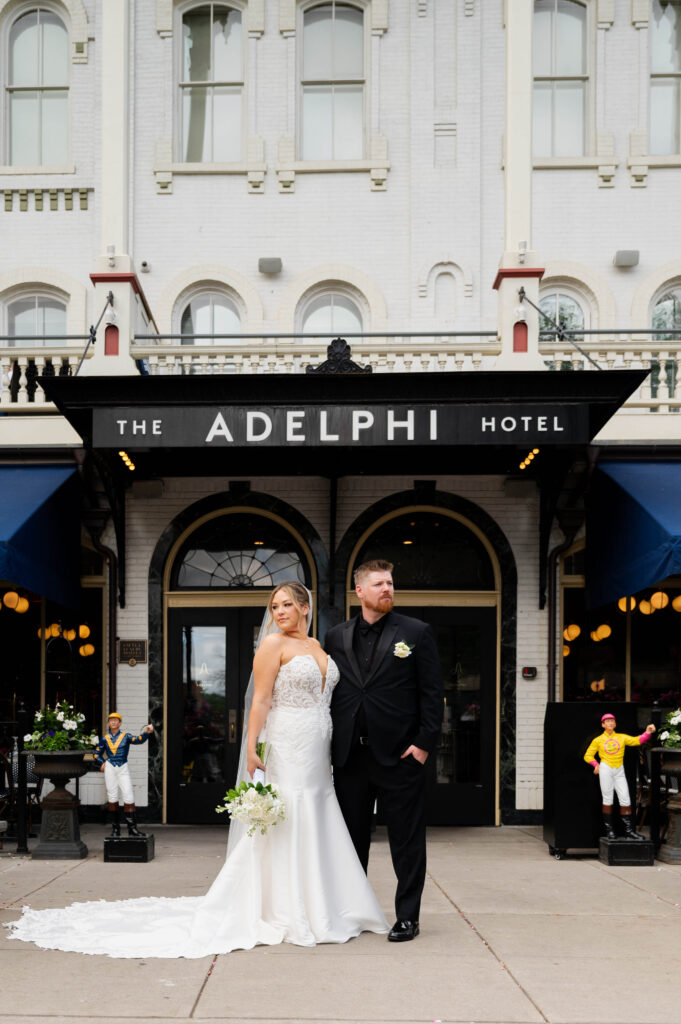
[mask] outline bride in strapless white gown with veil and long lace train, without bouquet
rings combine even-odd
[[[271,594],[247,691],[238,780],[264,768],[286,819],[263,836],[232,821],[227,857],[202,897],[25,909],[10,938],[46,949],[117,957],[190,958],[258,943],[346,942],[388,931],[345,827],[331,774],[331,694],[338,669],[308,636],[311,597],[297,581]]]

